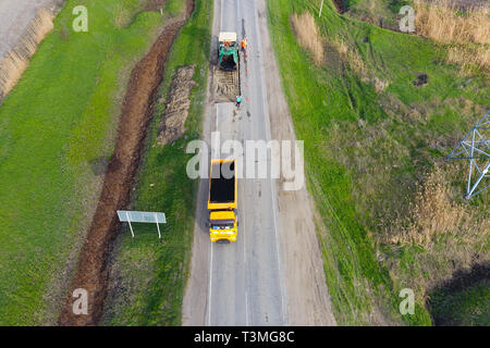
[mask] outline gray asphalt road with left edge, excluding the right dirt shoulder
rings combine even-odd
[[[256,1],[215,1],[212,45],[217,45],[220,30],[236,32],[238,39],[245,33],[248,58],[247,64],[243,60],[241,64],[244,100],[241,110],[237,111],[233,103],[215,104],[210,100],[208,104],[204,125],[208,141],[211,132],[220,132],[221,142],[228,139],[268,141],[271,137]],[[236,243],[228,245],[209,240],[204,226],[208,217],[207,194],[208,181],[203,179],[183,323],[212,326],[287,324],[275,182],[238,179],[238,236]]]

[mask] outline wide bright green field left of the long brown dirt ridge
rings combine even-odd
[[[88,33],[72,30],[78,4]],[[128,72],[163,24],[143,7],[68,1],[0,108],[2,325],[57,319],[60,274],[95,209]]]

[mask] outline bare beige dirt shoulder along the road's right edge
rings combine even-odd
[[[267,10],[258,0],[259,30],[265,59],[267,98],[272,139],[296,140],[287,102],[270,42]],[[323,258],[317,238],[315,206],[306,185],[297,191],[284,191],[278,182],[279,217],[282,227],[282,254],[291,325],[336,325],[327,288]]]

